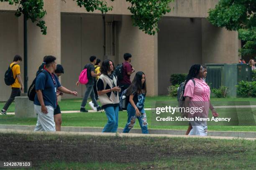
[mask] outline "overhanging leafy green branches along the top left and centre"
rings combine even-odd
[[[46,35],[46,23],[43,18],[46,14],[44,10],[44,0],[0,0],[1,2],[9,2],[10,5],[18,5],[15,13],[17,17],[21,14],[26,15],[32,22],[37,22],[37,26],[41,28],[41,32]],[[65,0],[62,0],[65,1]],[[99,10],[107,13],[112,10],[112,6],[108,6],[105,0],[73,0],[77,2],[79,7],[84,7],[87,12]],[[114,0],[111,0],[114,1]],[[161,17],[171,11],[169,3],[174,0],[126,0],[131,2],[128,10],[132,13],[133,25],[138,26],[149,35],[154,35],[158,28],[158,21]]]

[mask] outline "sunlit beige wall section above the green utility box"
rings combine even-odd
[[[211,25],[202,19],[202,63],[237,63],[238,32]]]

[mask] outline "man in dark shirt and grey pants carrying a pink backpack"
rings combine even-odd
[[[98,73],[98,74],[95,73],[94,65],[96,64],[96,57],[91,56],[90,57],[90,62],[91,63],[84,66],[84,69],[87,68],[87,78],[88,78],[89,81],[85,85],[86,86],[86,91],[84,93],[84,98],[83,98],[82,103],[81,103],[80,112],[88,112],[88,110],[85,109],[85,105],[87,103],[87,99],[88,99],[89,96],[91,97],[92,102],[95,105],[95,107],[97,107],[97,111],[101,110],[101,107],[98,105],[97,100],[95,99],[95,93],[94,93],[94,90],[93,90],[93,84],[94,84],[93,77],[96,77],[96,76],[100,75],[100,73]],[[80,82],[77,81],[76,85],[79,86]]]

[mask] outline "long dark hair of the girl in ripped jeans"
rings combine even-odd
[[[132,95],[134,92],[138,92],[139,94],[142,93],[142,90],[144,90],[144,94],[147,93],[147,85],[146,85],[146,76],[145,76],[145,82],[142,84],[141,79],[142,75],[145,75],[144,72],[138,71],[136,72],[136,75],[133,79],[133,82],[128,87],[126,91],[126,95]]]

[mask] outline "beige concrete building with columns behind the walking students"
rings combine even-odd
[[[123,53],[133,55],[136,71],[146,74],[148,95],[167,94],[169,77],[173,73],[188,72],[192,64],[232,63],[238,61],[241,46],[237,32],[212,26],[207,11],[218,0],[178,0],[159,22],[160,31],[154,36],[133,27],[131,13],[125,0],[107,1],[113,5],[103,23],[99,11],[87,13],[75,1],[45,0],[47,35],[28,21],[28,86],[45,55],[54,55],[64,66],[61,83],[84,95],[84,86],[76,87],[79,73],[91,55],[101,60],[104,54],[115,64],[123,62]],[[0,75],[4,75],[15,54],[23,56],[23,17],[16,18],[17,7],[0,3]],[[105,34],[104,34],[105,24]],[[23,62],[21,63],[23,74]],[[23,75],[22,75],[23,76]],[[134,76],[134,75],[133,75]],[[132,77],[133,78],[133,77]],[[0,101],[10,95],[10,87],[0,79]],[[72,97],[64,95],[63,98]]]

